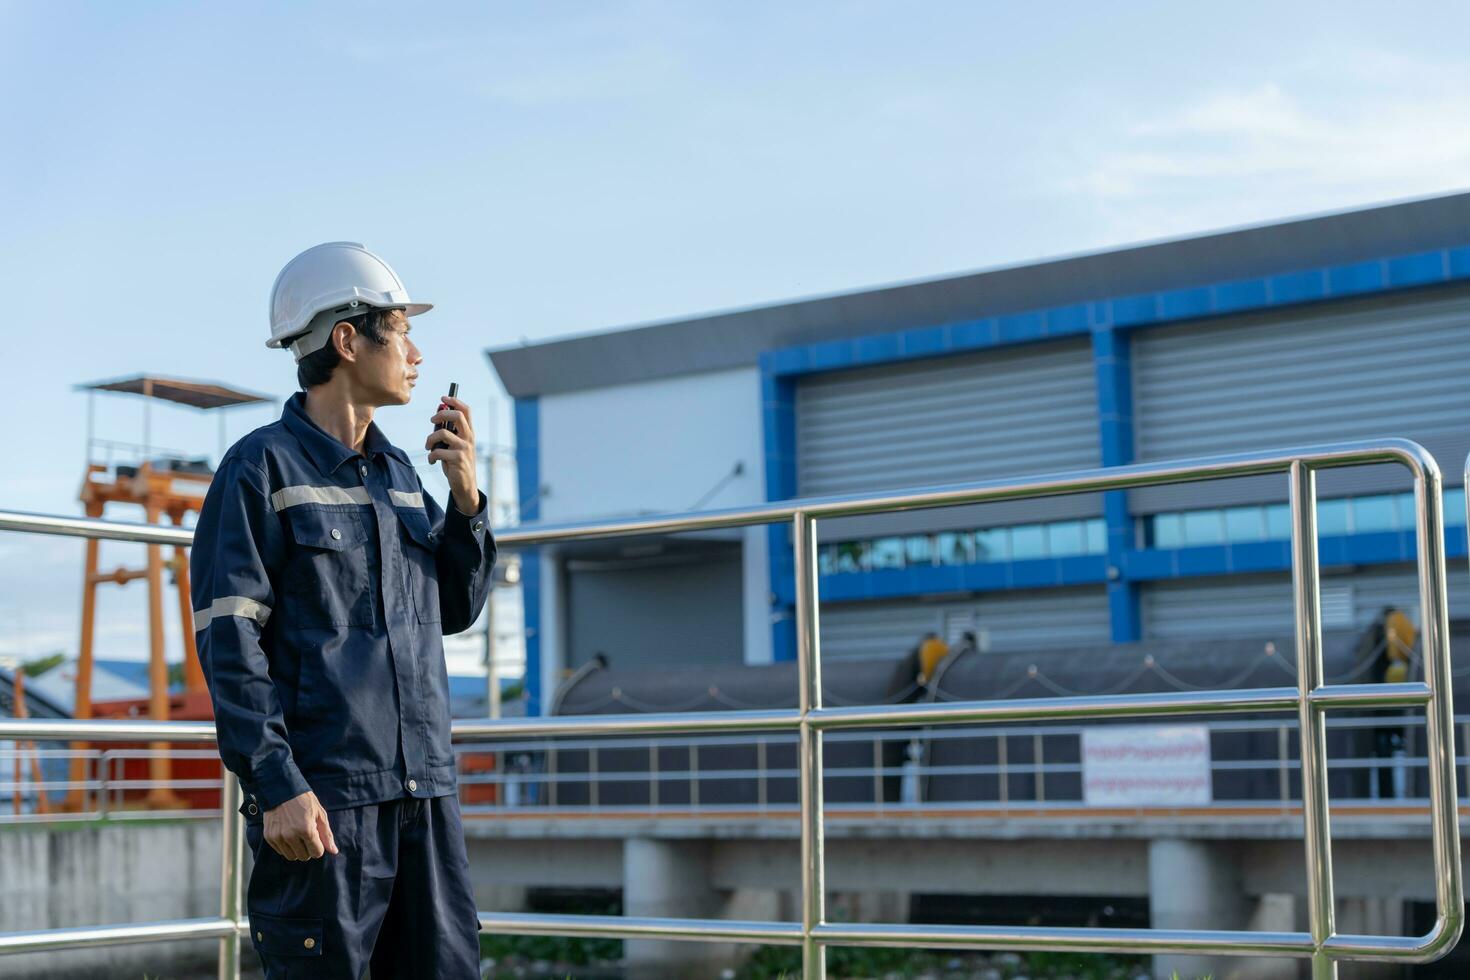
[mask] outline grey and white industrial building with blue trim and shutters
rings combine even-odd
[[[1470,194],[490,351],[522,523],[726,508],[1404,436],[1445,476],[1470,616]],[[1417,614],[1405,472],[1319,478],[1323,627]],[[569,671],[791,660],[789,530],[584,541],[523,566],[528,710]],[[1286,482],[819,523],[822,652],[928,630],[1045,651],[1291,632]]]

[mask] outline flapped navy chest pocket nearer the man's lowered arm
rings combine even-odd
[[[297,505],[285,511],[295,547],[287,560],[285,623],[372,626],[368,566],[372,529],[363,513]]]

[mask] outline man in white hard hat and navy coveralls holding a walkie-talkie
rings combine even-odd
[[[470,411],[425,439],[441,508],[373,422],[423,357],[398,276],[362,245],[293,259],[268,347],[297,381],[225,453],[190,573],[219,754],[244,789],[250,937],[266,977],[478,980],[441,636],[490,594],[495,541]]]

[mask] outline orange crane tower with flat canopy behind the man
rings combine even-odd
[[[188,406],[198,410],[219,411],[219,454],[225,453],[225,410],[251,404],[275,404],[275,398],[237,391],[212,382],[184,381],[176,378],[160,378],[154,375],[138,375],[134,378],[119,378],[113,381],[76,385],[78,391],[87,391],[87,472],[82,476],[79,500],[88,517],[101,517],[109,504],[129,504],[143,507],[147,523],[157,525],[166,514],[175,526],[184,525],[184,517],[190,511],[198,511],[204,502],[204,494],[215,476],[207,457],[171,453],[151,445],[151,404],[153,401],[168,401]],[[94,395],[97,392],[119,392],[141,395],[143,403],[143,442],[125,444],[109,442],[94,438]],[[113,460],[115,453],[121,457]],[[98,455],[104,458],[98,460]],[[97,567],[98,539],[87,539],[85,569],[82,574],[82,617],[81,642],[76,664],[76,704],[74,717],[134,717],[140,716],[144,704],[134,701],[115,701],[93,704],[93,648],[96,639],[97,617],[97,588],[104,583],[126,585],[134,579],[148,582],[148,689],[146,704],[147,717],[154,720],[175,718],[212,718],[213,710],[209,692],[204,688],[204,673],[200,669],[198,651],[194,646],[194,610],[190,601],[188,580],[188,550],[173,547],[173,552],[163,558],[163,547],[150,544],[147,547],[147,563],[141,569],[116,567],[101,572]],[[184,693],[169,695],[169,671],[163,651],[163,570],[172,572],[172,582],[176,588],[178,617],[184,635]],[[81,745],[79,748],[85,748]],[[147,790],[146,805],[156,808],[181,808],[190,805],[178,793],[169,789],[171,760],[165,755],[168,742],[150,743],[157,749],[147,760]],[[213,767],[218,770],[218,761]],[[74,788],[68,793],[66,810],[78,811],[84,808],[84,793],[81,783],[85,776],[85,758],[78,754],[72,760],[71,782]]]

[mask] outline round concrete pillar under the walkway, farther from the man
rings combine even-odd
[[[1154,929],[1245,929],[1251,908],[1230,846],[1214,840],[1154,839],[1148,843],[1148,911]],[[1254,977],[1236,956],[1154,956],[1155,980]]]

